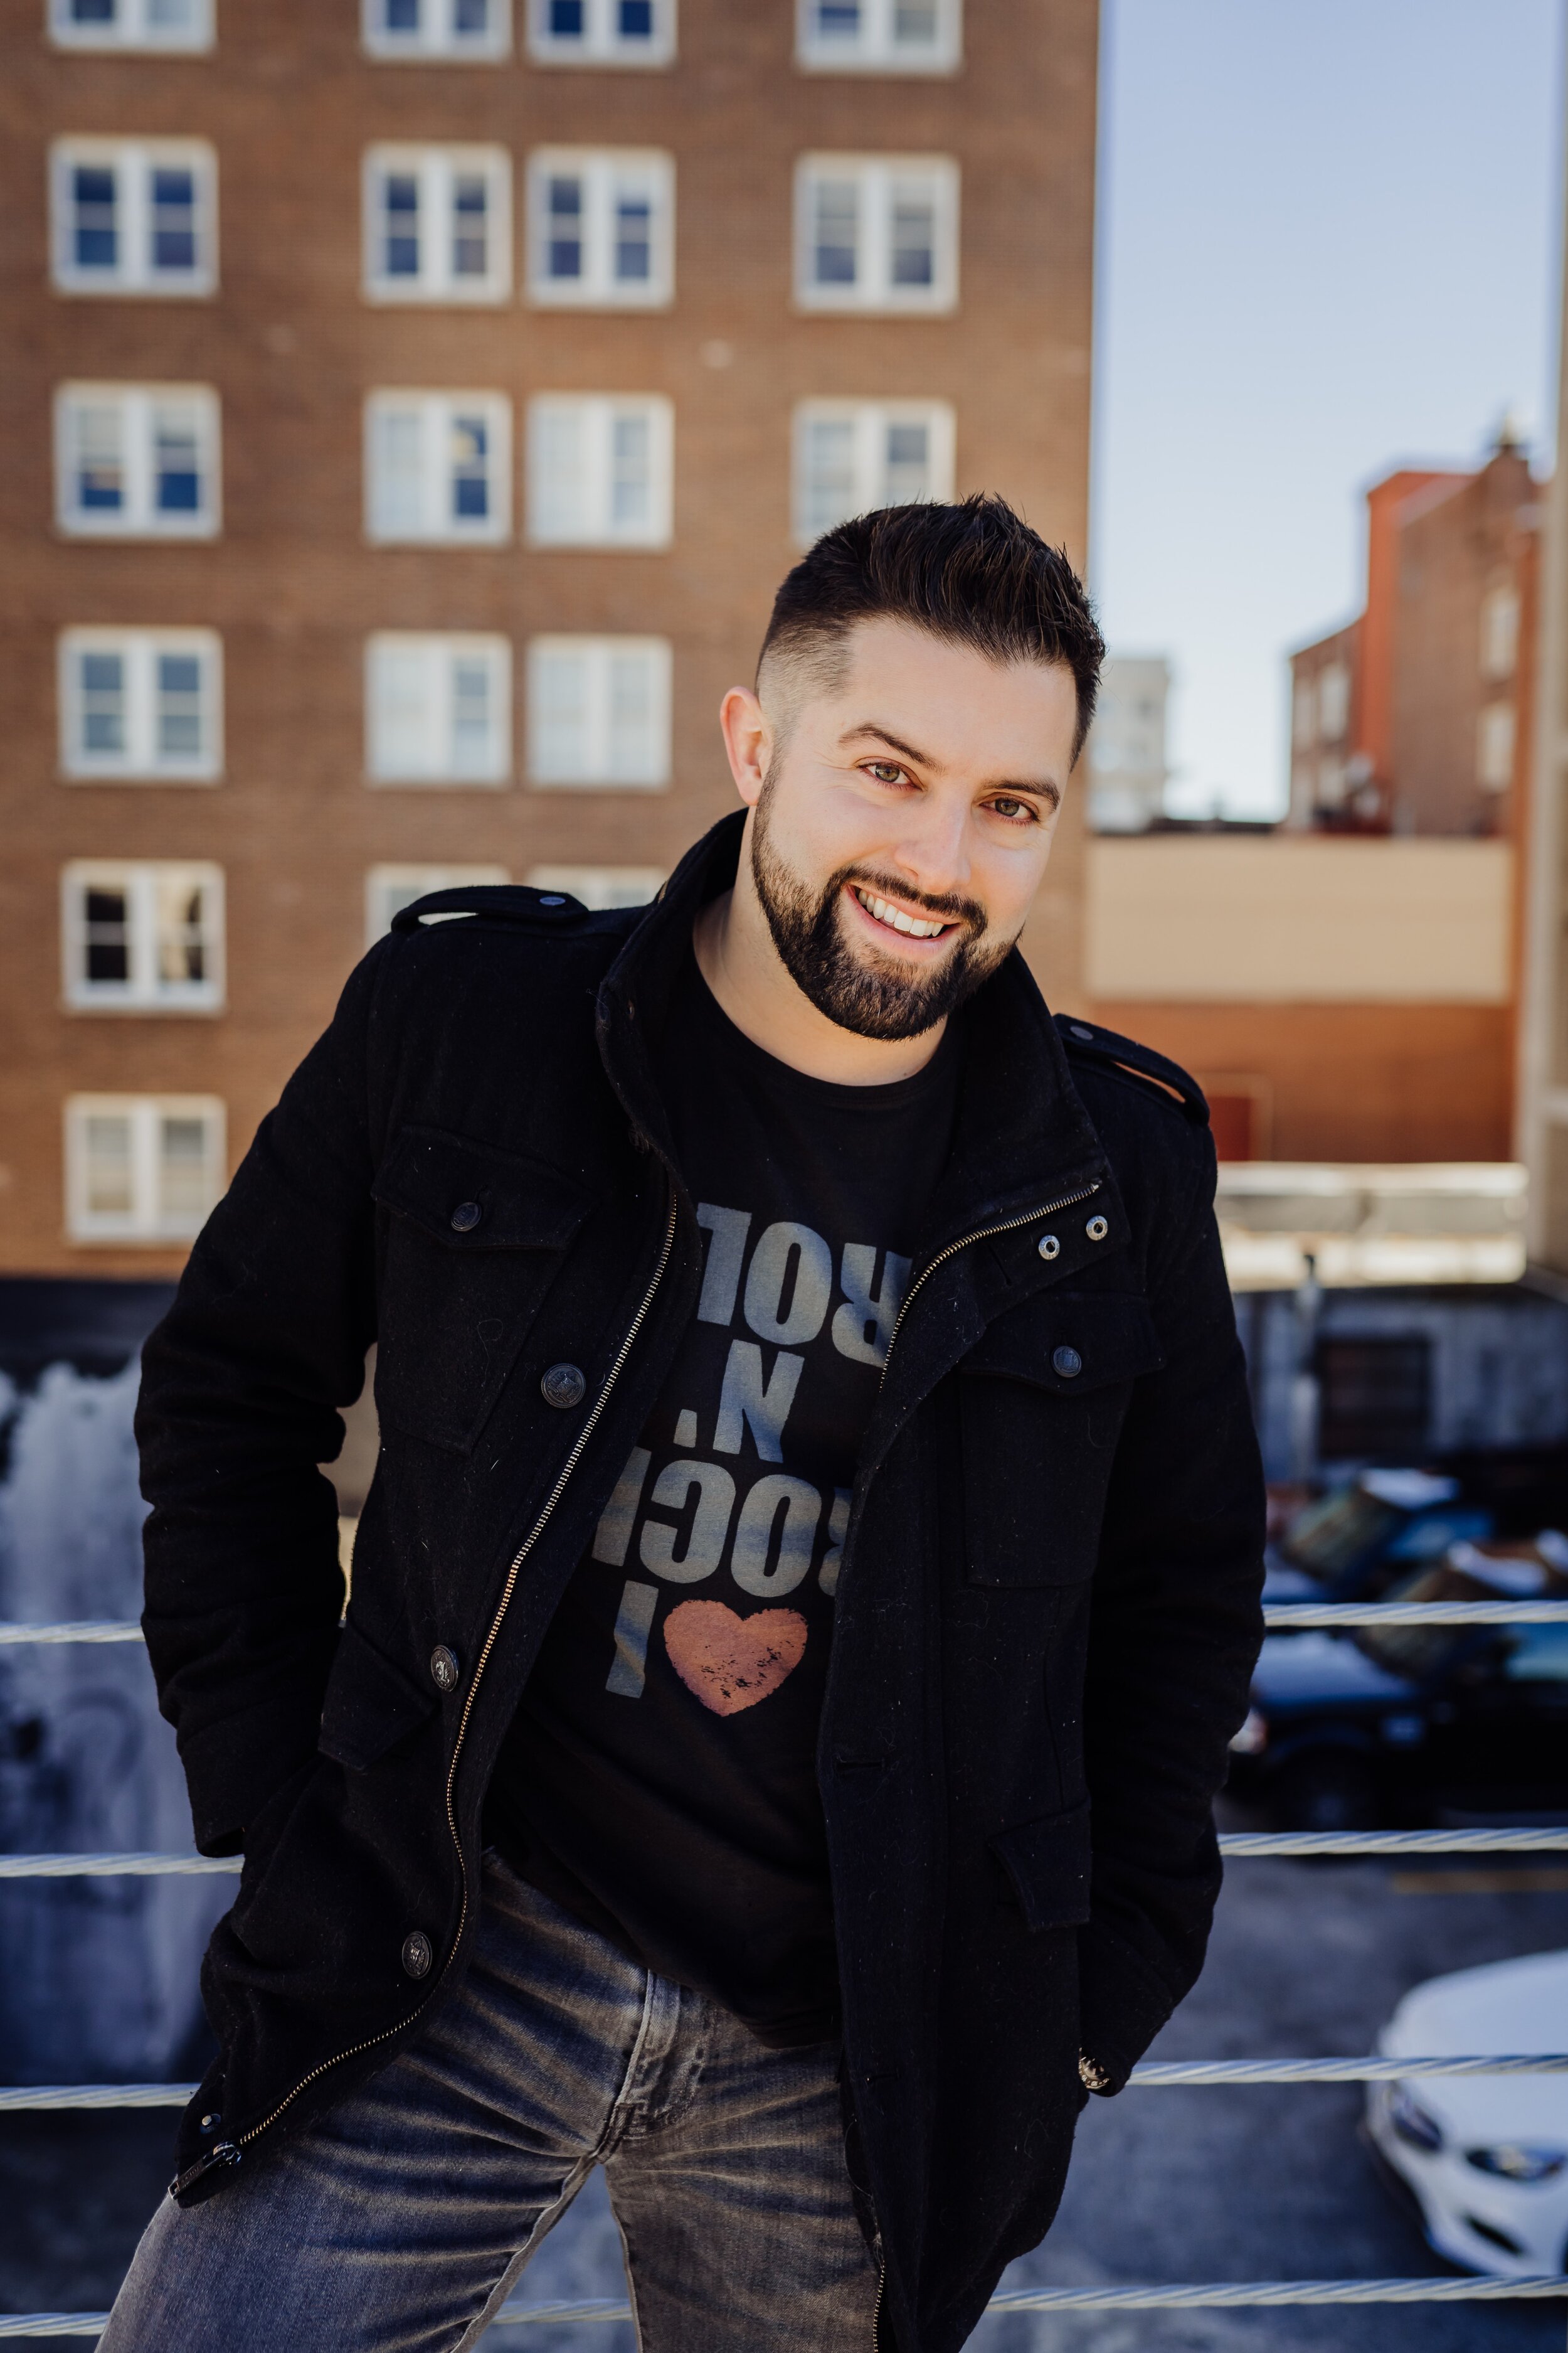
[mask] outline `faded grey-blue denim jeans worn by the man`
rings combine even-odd
[[[101,2353],[468,2353],[595,2165],[646,2353],[870,2353],[837,2049],[766,2049],[496,1857],[463,1991],[216,2198],[165,2200]]]

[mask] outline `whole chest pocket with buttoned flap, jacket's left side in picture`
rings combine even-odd
[[[595,1198],[543,1160],[437,1127],[400,1129],[371,1193],[390,1209],[376,1407],[468,1452]]]

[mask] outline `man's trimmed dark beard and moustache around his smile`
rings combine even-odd
[[[853,1031],[856,1038],[889,1042],[919,1038],[973,998],[976,988],[1011,955],[1013,941],[990,936],[978,899],[961,899],[957,892],[943,896],[917,892],[891,875],[877,875],[858,859],[839,866],[818,889],[802,882],[773,847],[769,800],[771,779],[764,779],[752,826],[757,899],[785,972],[839,1028]],[[884,899],[903,899],[938,922],[961,922],[964,936],[929,972],[882,955],[875,944],[858,951],[846,939],[839,913],[839,896],[851,882]]]

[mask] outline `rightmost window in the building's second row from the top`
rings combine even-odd
[[[959,167],[945,155],[802,155],[795,299],[804,311],[952,311]]]

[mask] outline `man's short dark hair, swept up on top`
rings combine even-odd
[[[823,532],[773,598],[757,671],[769,654],[816,654],[832,675],[849,631],[877,619],[912,621],[992,661],[1065,664],[1079,699],[1077,760],[1105,638],[1067,551],[1048,546],[1006,499],[976,492],[957,506],[882,506]]]

